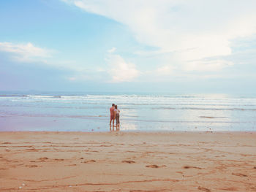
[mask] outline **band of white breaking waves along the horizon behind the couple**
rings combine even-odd
[[[195,106],[256,106],[256,98],[235,98],[235,97],[217,97],[203,95],[65,95],[65,94],[1,94],[0,99],[12,101],[49,101],[49,102],[83,102],[102,101],[104,104],[118,102],[119,104],[128,105],[195,105]]]

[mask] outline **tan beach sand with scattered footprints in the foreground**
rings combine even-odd
[[[256,132],[1,132],[0,191],[256,191]]]

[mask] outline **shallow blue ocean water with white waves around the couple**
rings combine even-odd
[[[0,92],[0,131],[256,131],[255,94]]]

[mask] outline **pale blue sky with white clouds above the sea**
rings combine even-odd
[[[256,93],[255,7],[0,1],[0,91]]]

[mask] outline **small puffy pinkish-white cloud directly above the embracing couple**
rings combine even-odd
[[[108,55],[106,61],[110,67],[108,69],[110,82],[130,82],[140,74],[135,64],[124,61],[120,55]]]

